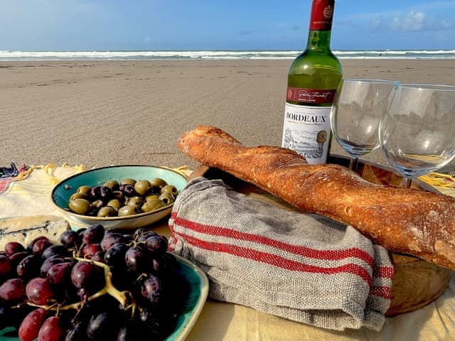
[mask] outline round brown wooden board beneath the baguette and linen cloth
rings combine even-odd
[[[343,156],[331,156],[329,162],[348,166],[348,158]],[[400,175],[394,173],[390,168],[375,163],[359,161],[357,171],[362,178],[371,183],[397,186],[401,183]],[[274,195],[265,192],[257,186],[245,183],[233,175],[218,169],[200,165],[191,173],[191,178],[196,178],[200,175],[210,179],[223,179],[226,185],[237,190],[237,192],[277,205],[284,210],[301,212],[296,207],[287,204],[284,200],[274,197]],[[413,181],[412,187],[437,192],[432,186],[419,180]],[[410,311],[422,308],[441,296],[447,286],[449,286],[451,277],[450,269],[406,254],[390,252],[390,258],[394,265],[395,275],[392,280],[393,298],[390,308],[385,314],[386,316],[409,313]]]

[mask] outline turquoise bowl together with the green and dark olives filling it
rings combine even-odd
[[[109,166],[66,178],[55,185],[51,199],[79,224],[136,229],[169,215],[187,182],[166,167]]]

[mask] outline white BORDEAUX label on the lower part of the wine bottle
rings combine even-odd
[[[292,149],[310,164],[326,163],[331,107],[286,103],[282,147]]]

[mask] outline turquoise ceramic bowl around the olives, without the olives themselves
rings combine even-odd
[[[161,207],[159,210],[124,217],[90,217],[78,215],[68,209],[68,200],[78,187],[82,185],[93,187],[102,185],[107,180],[120,181],[124,178],[136,180],[162,178],[168,184],[176,186],[178,193],[188,182],[184,175],[166,167],[128,165],[95,168],[75,174],[55,185],[51,193],[52,202],[63,215],[75,222],[77,227],[102,224],[106,229],[137,229],[157,222],[171,213],[172,204]]]

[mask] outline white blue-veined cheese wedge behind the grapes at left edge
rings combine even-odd
[[[70,224],[56,215],[14,217],[0,221],[0,250],[8,242],[19,242],[24,247],[36,237],[45,236],[51,242],[58,242],[63,231],[71,229]]]

